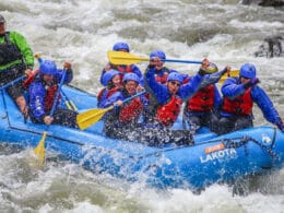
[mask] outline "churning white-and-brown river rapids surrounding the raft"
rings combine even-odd
[[[141,57],[162,49],[168,59],[208,57],[220,68],[253,62],[260,85],[284,117],[283,57],[253,57],[265,37],[283,35],[283,10],[239,0],[1,0],[0,13],[34,52],[58,64],[71,61],[72,84],[91,93],[100,86],[106,51],[127,42]],[[139,67],[144,71],[146,63]],[[189,74],[198,70],[194,64],[167,67]],[[269,125],[257,107],[255,116],[256,125]],[[227,185],[196,194],[93,174],[52,153],[38,169],[31,152],[0,146],[0,212],[284,212],[284,169],[239,181],[245,196]]]

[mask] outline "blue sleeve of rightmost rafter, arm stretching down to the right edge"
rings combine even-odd
[[[281,121],[280,115],[273,106],[273,103],[261,87],[255,86],[251,88],[251,98],[259,106],[268,121],[274,125]]]

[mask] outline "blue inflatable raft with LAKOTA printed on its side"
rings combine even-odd
[[[80,110],[96,106],[96,97],[86,92],[71,86],[62,90]],[[46,130],[45,125],[24,122],[4,90],[1,90],[0,116],[1,143],[35,147]],[[255,127],[222,137],[203,132],[194,135],[194,142],[193,146],[173,143],[150,147],[138,142],[113,140],[102,133],[99,121],[85,131],[50,126],[46,150],[92,171],[144,181],[158,188],[198,190],[284,165],[284,133],[272,127]]]

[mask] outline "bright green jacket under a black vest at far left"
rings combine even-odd
[[[5,32],[5,33],[8,33],[8,32]],[[16,45],[16,47],[21,51],[21,54],[23,56],[23,61],[26,64],[26,67],[29,68],[29,69],[33,69],[33,67],[34,67],[34,56],[33,56],[33,51],[32,51],[31,47],[28,46],[25,37],[22,36],[21,34],[16,33],[16,32],[10,32],[9,33],[9,39],[12,44]],[[5,42],[4,36],[1,36],[0,37],[0,44],[3,44],[4,42]],[[14,64],[21,64],[21,63],[22,63],[22,60],[11,61],[7,64],[0,66],[0,71],[7,70]]]

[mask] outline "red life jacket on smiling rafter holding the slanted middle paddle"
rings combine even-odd
[[[119,121],[120,122],[130,122],[132,120],[139,119],[142,114],[143,105],[140,97],[135,97],[126,106],[120,109]]]

